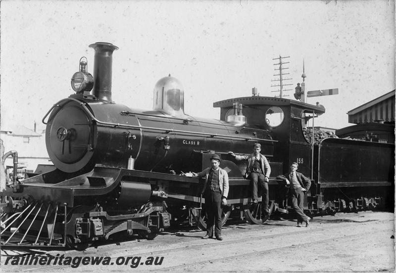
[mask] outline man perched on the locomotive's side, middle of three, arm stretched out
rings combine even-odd
[[[249,178],[252,187],[253,203],[257,203],[257,183],[260,182],[262,188],[262,213],[265,217],[269,214],[268,211],[268,182],[271,174],[271,167],[269,166],[267,158],[260,153],[261,144],[254,143],[253,153],[250,155],[236,155],[233,152],[228,152],[231,156],[235,157],[237,161],[247,160],[245,178]]]

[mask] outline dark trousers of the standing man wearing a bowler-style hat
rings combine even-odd
[[[221,235],[221,193],[207,189],[205,191],[206,232],[213,236]]]

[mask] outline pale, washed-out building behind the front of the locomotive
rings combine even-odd
[[[0,138],[3,140],[4,152],[16,150],[18,152],[18,177],[24,178],[24,173],[33,172],[38,164],[52,164],[46,148],[46,131],[15,125],[7,130],[1,129]],[[7,175],[12,172],[12,157],[5,159],[4,168]]]

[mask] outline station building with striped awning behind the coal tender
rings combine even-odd
[[[347,112],[354,123],[336,131],[338,137],[395,143],[395,90]]]

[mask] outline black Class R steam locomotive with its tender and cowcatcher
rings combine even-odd
[[[71,79],[75,93],[56,102],[43,118],[47,151],[54,166],[38,166],[1,193],[2,245],[85,248],[97,240],[139,235],[152,239],[171,221],[204,228],[205,201],[198,178],[180,176],[209,167],[213,153],[228,172],[230,191],[223,224],[231,213],[252,224],[288,213],[285,186],[276,176],[292,162],[310,174],[305,209],[312,215],[392,206],[395,145],[339,138],[309,142],[307,121],[325,113],[321,105],[257,96],[214,102],[220,119],[184,112],[184,89],[170,75],[154,87],[153,110],[131,109],[111,98],[109,43],[95,50],[93,75],[87,59]],[[260,143],[271,166],[270,215],[261,218],[261,199],[252,203],[245,154]],[[17,153],[4,155],[14,157]],[[4,159],[3,157],[3,159]],[[370,159],[370,160],[367,160]]]

